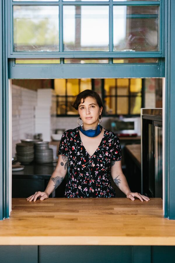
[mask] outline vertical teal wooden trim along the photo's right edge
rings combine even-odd
[[[166,65],[165,65],[165,214],[175,219],[175,1],[166,1]]]

